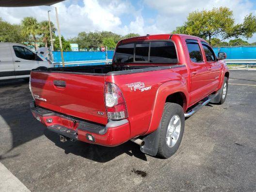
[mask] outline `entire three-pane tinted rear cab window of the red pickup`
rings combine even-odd
[[[121,44],[116,48],[114,63],[177,64],[172,41],[150,41]]]

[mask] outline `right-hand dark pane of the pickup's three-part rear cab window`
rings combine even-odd
[[[150,63],[177,63],[176,48],[170,41],[154,41],[150,45]]]

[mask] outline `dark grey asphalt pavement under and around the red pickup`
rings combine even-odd
[[[0,162],[31,191],[256,191],[256,71],[231,70],[229,83],[163,160],[132,142],[61,143],[32,117],[28,82],[1,81]]]

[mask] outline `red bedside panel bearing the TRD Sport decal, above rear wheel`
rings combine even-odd
[[[187,78],[187,69],[185,66],[106,77],[107,82],[113,82],[121,89],[126,100],[128,119],[131,127],[130,138],[149,133],[149,128],[150,132],[157,129],[166,97],[177,91],[187,90]],[[138,82],[144,83],[144,87],[150,87],[150,89],[142,91],[129,87],[130,84]],[[160,86],[167,82],[172,83],[160,89]],[[158,99],[161,99],[160,102],[158,102]],[[152,124],[152,119],[154,118],[156,120]]]

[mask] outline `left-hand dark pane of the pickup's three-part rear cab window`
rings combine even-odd
[[[116,48],[114,62],[115,63],[132,63],[134,44],[120,45]]]

